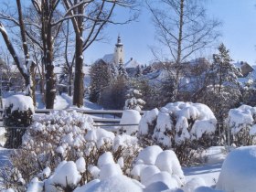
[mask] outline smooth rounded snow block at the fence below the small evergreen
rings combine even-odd
[[[139,124],[141,120],[140,112],[136,110],[125,110],[123,111],[122,118],[120,124]],[[139,127],[137,125],[129,125],[129,126],[122,126],[121,128],[124,133],[126,134],[133,134],[137,133]]]

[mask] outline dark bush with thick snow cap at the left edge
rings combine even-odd
[[[4,123],[6,127],[7,148],[17,148],[21,145],[26,127],[32,123],[34,105],[31,97],[13,95],[5,100]],[[14,127],[22,127],[15,129]]]

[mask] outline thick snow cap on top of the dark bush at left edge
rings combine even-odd
[[[24,112],[28,109],[30,109],[33,113],[35,112],[32,98],[25,95],[13,95],[6,98],[4,106],[5,108],[12,106],[11,112],[16,110],[19,112]]]

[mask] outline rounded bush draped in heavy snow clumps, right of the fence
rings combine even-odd
[[[160,111],[144,113],[139,137],[151,139],[164,148],[174,148],[179,160],[185,163],[193,150],[211,145],[216,123],[213,112],[204,104],[171,102]]]

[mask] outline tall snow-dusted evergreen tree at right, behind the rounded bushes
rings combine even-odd
[[[231,64],[229,49],[220,44],[219,53],[213,55],[213,63],[208,73],[208,86],[201,100],[214,112],[219,121],[219,136],[224,136],[224,120],[229,109],[240,104],[240,71]]]

